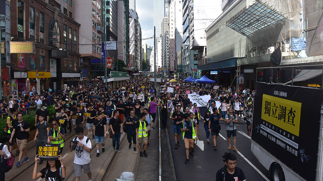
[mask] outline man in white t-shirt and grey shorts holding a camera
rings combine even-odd
[[[75,181],[80,181],[80,176],[82,176],[82,169],[85,174],[88,174],[89,181],[91,179],[91,170],[90,170],[90,152],[91,152],[91,141],[90,138],[84,136],[83,127],[77,127],[75,129],[76,136],[72,141],[70,141],[69,151],[72,152],[75,150],[74,157],[74,172],[75,172]]]

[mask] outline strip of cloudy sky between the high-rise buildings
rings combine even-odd
[[[141,26],[141,38],[150,38],[154,35],[152,0],[136,0],[136,12]],[[154,45],[154,39],[142,40],[150,46]]]

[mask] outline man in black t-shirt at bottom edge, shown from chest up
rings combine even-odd
[[[227,153],[224,157],[225,166],[216,172],[215,181],[246,181],[241,168],[236,167],[237,157],[233,153]]]

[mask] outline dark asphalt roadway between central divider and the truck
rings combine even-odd
[[[205,114],[206,107],[200,108],[201,116],[203,117]],[[240,118],[240,117],[239,117]],[[208,144],[206,142],[206,133],[205,129],[203,127],[203,119],[200,121],[199,125],[199,140],[203,141],[204,150],[202,151],[201,148],[199,148],[197,145],[194,144],[194,156],[189,157],[190,161],[188,164],[185,164],[184,161],[186,160],[186,154],[185,154],[185,146],[183,143],[183,138],[181,136],[180,143],[181,147],[178,147],[178,149],[175,149],[175,143],[174,143],[174,134],[173,134],[173,128],[172,128],[172,120],[168,118],[167,121],[167,129],[169,134],[169,139],[171,143],[171,149],[172,149],[172,157],[175,167],[175,174],[177,180],[215,180],[216,172],[218,169],[224,166],[223,162],[223,154],[224,152],[232,152],[237,157],[237,167],[240,167],[243,169],[246,180],[247,181],[265,181],[267,179],[266,176],[268,176],[268,171],[265,167],[263,167],[258,160],[255,158],[253,153],[250,151],[251,148],[251,141],[250,137],[246,134],[243,135],[241,132],[246,132],[246,124],[245,121],[242,119],[239,119],[239,123],[237,124],[237,148],[238,151],[243,155],[239,155],[236,151],[233,149],[228,149],[228,141],[225,140],[226,137],[226,130],[225,130],[225,123],[224,121],[220,121],[221,124],[221,130],[220,134],[224,137],[222,138],[220,135],[217,138],[217,150],[213,149],[213,138],[210,134],[210,143]],[[233,138],[231,138],[231,145],[233,146]],[[245,159],[247,159],[251,164],[256,167],[260,173],[257,172],[257,170],[251,166]],[[266,179],[264,178],[266,177]]]

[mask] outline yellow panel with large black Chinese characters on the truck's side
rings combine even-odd
[[[302,103],[263,94],[261,119],[299,136]]]

